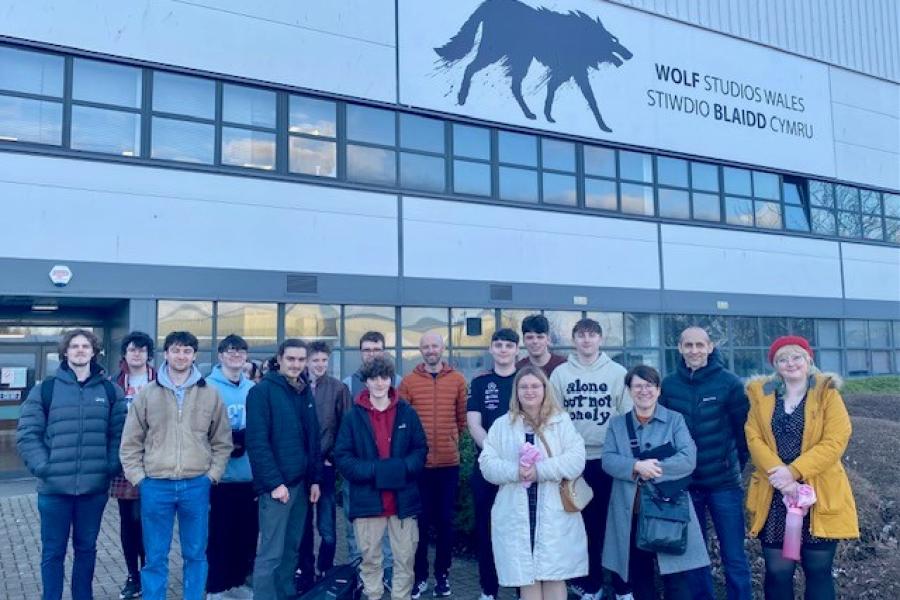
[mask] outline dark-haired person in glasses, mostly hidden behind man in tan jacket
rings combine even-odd
[[[156,380],[156,371],[150,366],[153,348],[153,338],[143,331],[132,331],[122,340],[119,373],[113,381],[125,391],[127,406],[131,405],[145,385]],[[123,475],[113,477],[109,495],[119,504],[119,539],[122,542],[125,567],[128,569],[128,579],[119,592],[119,598],[120,600],[140,598],[140,567],[145,561],[144,536],[141,529],[141,495]]]

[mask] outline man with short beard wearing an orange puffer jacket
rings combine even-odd
[[[419,478],[424,512],[419,516],[412,598],[428,589],[428,539],[435,530],[434,596],[450,595],[453,514],[459,487],[459,434],[466,427],[466,380],[442,360],[444,338],[430,331],[419,340],[422,363],[400,382],[398,394],[416,410],[428,438],[425,471]]]

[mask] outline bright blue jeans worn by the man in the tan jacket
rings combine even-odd
[[[184,600],[206,597],[206,540],[209,531],[209,488],[206,475],[192,479],[141,482],[141,526],[147,562],[141,570],[145,600],[165,600],[169,582],[169,549],[178,515],[184,559]]]

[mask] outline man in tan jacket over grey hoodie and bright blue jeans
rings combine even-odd
[[[163,344],[157,379],[128,409],[119,455],[125,477],[141,491],[147,564],[141,571],[146,600],[165,600],[175,516],[184,560],[184,600],[206,590],[209,491],[231,456],[225,405],[194,365],[197,338],[173,331]]]

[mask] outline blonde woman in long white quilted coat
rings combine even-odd
[[[526,442],[541,453],[531,466],[519,461]],[[522,368],[509,415],[491,426],[478,459],[484,478],[500,486],[491,509],[497,577],[502,586],[519,587],[522,600],[565,600],[566,580],[587,575],[581,514],[566,512],[559,495],[560,481],[581,475],[584,460],[584,440],[543,371]]]

